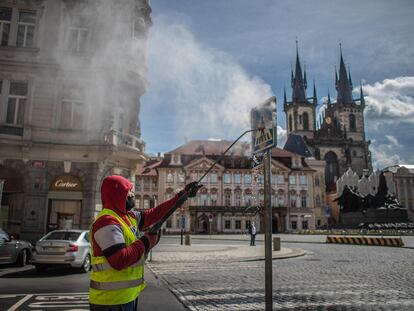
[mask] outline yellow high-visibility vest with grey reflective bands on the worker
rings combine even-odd
[[[115,217],[121,224],[127,246],[138,239],[132,228],[112,210],[103,209],[97,219],[105,215]],[[131,225],[137,228],[136,219],[131,216],[127,217]],[[92,226],[90,234],[92,234]],[[92,238],[91,243],[93,243]],[[92,272],[89,287],[89,302],[91,304],[120,305],[128,303],[134,301],[147,286],[144,282],[145,255],[142,255],[136,264],[122,270],[115,270],[109,265],[105,256],[95,256],[93,253],[93,245],[91,253]]]

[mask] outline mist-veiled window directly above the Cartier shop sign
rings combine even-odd
[[[62,129],[82,129],[84,127],[85,105],[80,100],[64,99],[60,127]]]

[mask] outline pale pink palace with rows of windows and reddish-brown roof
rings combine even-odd
[[[158,201],[201,178],[231,143],[190,141],[167,152],[156,167]],[[324,171],[324,161],[309,162],[283,149],[272,150],[273,232],[313,229],[325,222],[318,218],[323,213],[317,210],[324,206]],[[262,230],[263,175],[260,166],[251,168],[248,143],[237,143],[202,183],[197,197],[167,221],[167,232],[178,233],[184,226],[191,233],[241,233],[247,232],[251,222]],[[318,197],[320,201],[316,201]]]

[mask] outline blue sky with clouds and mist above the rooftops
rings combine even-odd
[[[366,95],[374,168],[414,164],[414,1],[152,0],[151,7],[140,112],[148,153],[191,139],[233,140],[249,129],[250,109],[272,95],[283,147],[283,89],[289,100],[297,40],[307,95],[315,81],[319,103],[328,90],[336,97],[341,43],[355,98],[360,83]]]

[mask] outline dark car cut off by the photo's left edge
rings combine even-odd
[[[0,264],[17,264],[24,267],[32,254],[32,244],[16,240],[0,228]]]

